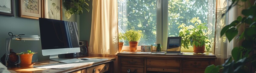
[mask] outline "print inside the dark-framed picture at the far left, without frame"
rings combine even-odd
[[[0,0],[0,12],[11,13],[11,0]]]

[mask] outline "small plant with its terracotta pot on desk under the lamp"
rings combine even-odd
[[[32,63],[33,54],[37,52],[31,52],[31,50],[27,50],[27,52],[21,52],[17,55],[20,55],[20,66],[21,67],[31,67],[34,63]]]

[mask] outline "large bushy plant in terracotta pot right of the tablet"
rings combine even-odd
[[[201,23],[199,17],[194,17],[190,20],[194,26],[189,25],[186,26],[185,23],[182,23],[178,26],[180,29],[179,36],[182,37],[181,43],[182,47],[188,49],[188,46],[193,46],[194,53],[204,53],[204,49],[209,51],[211,47],[211,42],[208,40],[206,36],[207,26],[206,23]]]

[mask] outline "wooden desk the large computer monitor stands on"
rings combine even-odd
[[[84,58],[84,57],[79,57]],[[92,57],[88,57],[92,58]],[[106,61],[99,61],[95,62],[93,64],[88,64],[84,66],[78,66],[74,68],[69,69],[44,69],[44,68],[33,68],[33,67],[13,67],[8,68],[8,70],[16,71],[17,73],[102,73],[102,72],[108,72],[113,73],[114,68],[114,62],[115,58],[113,57],[96,57],[96,58],[107,58]],[[57,61],[38,61],[35,62],[34,65],[44,65],[44,64],[52,64],[52,63],[58,63]],[[106,67],[106,68],[105,68]],[[93,69],[96,71],[93,72]]]

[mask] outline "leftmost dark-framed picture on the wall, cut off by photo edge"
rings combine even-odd
[[[0,14],[14,16],[13,0],[0,0]]]

